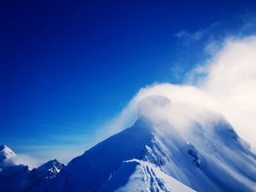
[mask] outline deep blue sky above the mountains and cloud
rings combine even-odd
[[[7,1],[0,9],[0,143],[31,153],[86,148],[140,88],[182,83],[208,39],[241,28],[256,4]],[[192,43],[177,37],[182,30],[207,38]]]

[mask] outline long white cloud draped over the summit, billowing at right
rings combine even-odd
[[[256,149],[256,37],[229,37],[211,59],[189,73],[193,85],[169,83],[147,86],[118,117],[106,123],[100,138],[132,126],[138,101],[150,95],[167,96],[174,104],[187,103],[221,112],[252,149]],[[202,75],[203,74],[203,75]]]

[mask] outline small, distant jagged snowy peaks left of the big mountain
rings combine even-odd
[[[4,161],[15,156],[15,153],[6,145],[1,145],[1,157]],[[0,171],[0,191],[37,191],[64,168],[60,161],[51,160],[36,169],[20,164],[4,164]]]

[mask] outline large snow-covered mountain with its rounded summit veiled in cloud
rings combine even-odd
[[[150,96],[140,101],[134,126],[74,158],[48,182],[25,189],[256,191],[256,156],[217,112]]]

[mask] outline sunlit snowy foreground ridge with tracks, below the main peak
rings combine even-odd
[[[130,174],[131,170],[133,171]],[[124,177],[127,176],[127,177]],[[121,185],[124,184],[124,185]],[[192,192],[191,188],[179,183],[162,172],[158,166],[147,161],[132,159],[124,161],[113,178],[99,191],[179,191]]]

